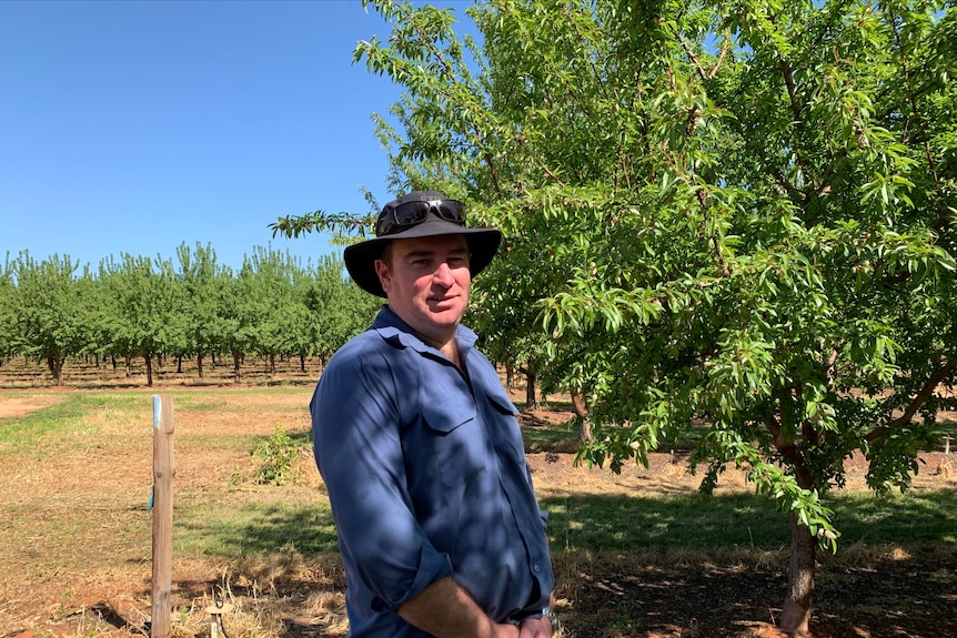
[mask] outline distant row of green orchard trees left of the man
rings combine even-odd
[[[46,363],[57,385],[68,357],[145,363],[195,359],[198,375],[216,357],[245,355],[275,369],[275,358],[326,359],[371,322],[377,302],[343,273],[339,257],[302,265],[288,252],[256,246],[239,271],[209,245],[177,249],[177,261],[121,254],[94,271],[69,256],[29,252],[0,266],[0,364],[11,356]]]

